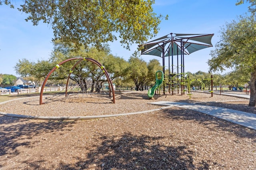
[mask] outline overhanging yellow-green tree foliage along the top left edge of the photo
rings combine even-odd
[[[12,0],[0,0],[2,4],[15,8]],[[162,16],[153,12],[152,4],[154,0],[26,0],[17,9],[33,25],[51,25],[55,40],[98,48],[119,37],[129,49],[158,33]]]

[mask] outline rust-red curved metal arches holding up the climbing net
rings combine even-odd
[[[54,72],[54,70],[56,70],[56,68],[59,68],[60,65],[66,63],[66,62],[68,62],[68,61],[72,61],[72,60],[79,60],[78,62],[76,62],[76,64],[74,64],[74,66],[72,67],[72,70],[74,69],[74,67],[75,67],[78,63],[80,63],[81,61],[86,61],[86,60],[87,60],[87,61],[90,61],[90,62],[92,62],[92,63],[94,63],[94,64],[96,64],[97,66],[99,66],[99,67],[103,70],[104,74],[106,75],[106,78],[107,78],[107,80],[108,80],[108,85],[109,85],[109,87],[111,87],[111,88],[109,89],[109,95],[111,96],[111,91],[112,91],[113,103],[116,102],[116,101],[115,101],[114,86],[113,86],[113,84],[112,84],[112,81],[111,81],[111,79],[110,79],[110,76],[109,76],[107,70],[105,69],[105,67],[104,67],[102,64],[100,64],[98,61],[94,60],[94,59],[91,59],[91,58],[80,58],[80,57],[78,57],[78,58],[72,58],[72,59],[67,59],[67,60],[65,60],[65,61],[62,61],[61,63],[56,64],[56,66],[54,66],[54,68],[52,68],[52,70],[50,70],[50,72],[48,73],[48,75],[46,76],[46,78],[44,79],[44,82],[43,82],[43,84],[42,84],[42,88],[41,88],[41,92],[40,92],[40,101],[39,101],[39,104],[40,104],[40,105],[41,105],[41,104],[44,104],[44,103],[42,102],[44,87],[45,87],[45,84],[46,84],[48,78],[50,77],[50,75]],[[70,73],[70,74],[71,74],[71,73]],[[70,78],[70,74],[68,75],[68,80],[67,80],[67,84],[66,84],[66,94],[67,94],[67,86],[68,86],[68,81],[69,81],[69,78]]]

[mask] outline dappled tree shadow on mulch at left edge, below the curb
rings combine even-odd
[[[41,121],[31,122],[28,119],[0,116],[0,156],[4,154],[19,154],[19,146],[30,146],[35,135],[61,131],[64,127],[72,126],[73,121]],[[24,140],[28,139],[28,140]],[[20,142],[22,140],[22,142]],[[1,167],[1,166],[0,166]]]

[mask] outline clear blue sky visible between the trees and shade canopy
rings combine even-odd
[[[154,12],[166,16],[168,20],[162,20],[160,31],[153,39],[169,33],[214,33],[212,44],[220,41],[219,31],[226,22],[236,20],[237,16],[248,11],[248,4],[236,6],[237,0],[156,0]],[[19,0],[14,1],[18,4]],[[40,23],[33,26],[30,21],[24,19],[26,14],[6,5],[0,6],[0,73],[16,74],[14,66],[20,59],[37,61],[48,59],[52,51],[51,40],[53,32],[50,25]],[[150,41],[150,40],[149,40]],[[128,60],[136,50],[138,44],[131,46],[128,51],[121,47],[119,41],[110,43],[111,53]],[[185,72],[208,72],[207,61],[210,59],[210,51],[214,47],[196,51],[185,55]],[[148,62],[150,59],[160,57],[142,55]],[[166,60],[166,62],[168,62]],[[228,72],[227,70],[226,72]],[[224,73],[224,72],[223,72]],[[222,74],[223,74],[222,73]]]

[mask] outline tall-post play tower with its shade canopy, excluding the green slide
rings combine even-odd
[[[186,82],[184,55],[212,47],[211,39],[213,35],[169,33],[163,37],[139,45],[141,55],[154,55],[162,58],[164,94],[166,92],[174,94],[176,90],[179,93],[178,87],[181,87],[182,94],[184,94],[184,82]],[[168,64],[166,64],[165,58],[168,58]],[[166,69],[167,65],[168,70]],[[167,74],[166,71],[168,71]]]

